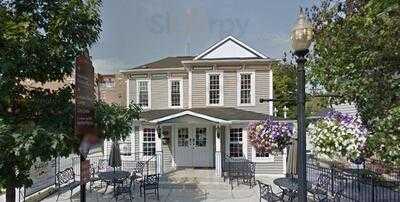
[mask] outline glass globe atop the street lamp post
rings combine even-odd
[[[313,27],[307,20],[303,9],[300,9],[299,17],[290,36],[295,52],[306,51],[310,47],[313,35]]]

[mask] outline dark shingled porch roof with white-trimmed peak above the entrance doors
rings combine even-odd
[[[208,107],[149,110],[142,112],[141,119],[153,123],[159,123],[186,115],[203,118],[216,123],[231,123],[232,121],[255,121],[264,120],[266,118],[276,118],[267,114],[236,109],[233,107]]]

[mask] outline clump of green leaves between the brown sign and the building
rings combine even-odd
[[[117,104],[96,102],[95,122],[101,138],[125,140],[132,131],[132,120],[139,119],[141,108],[131,103],[128,107]]]

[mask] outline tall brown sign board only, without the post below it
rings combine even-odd
[[[88,55],[78,56],[75,64],[75,134],[83,138],[95,135],[94,67]]]

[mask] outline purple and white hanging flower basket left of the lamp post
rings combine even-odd
[[[293,136],[293,125],[267,119],[250,123],[248,138],[257,152],[279,153],[290,144]]]

